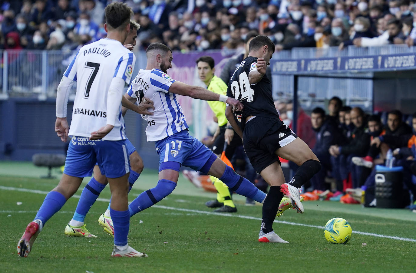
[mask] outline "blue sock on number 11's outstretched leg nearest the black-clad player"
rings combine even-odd
[[[225,167],[224,174],[220,177],[220,180],[223,181],[228,188],[230,188],[231,192],[235,191],[240,195],[258,201],[259,203],[266,198],[266,194],[264,192],[257,189],[253,183],[245,179],[243,176],[236,174],[230,166]]]

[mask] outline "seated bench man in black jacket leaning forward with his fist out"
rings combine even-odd
[[[354,107],[351,110],[350,115],[351,122],[354,124],[355,129],[352,132],[349,143],[344,146],[332,145],[329,147],[329,154],[332,156],[332,168],[339,170],[340,173],[344,174],[342,176],[342,191],[345,191],[347,188],[358,188],[361,186],[359,184],[362,167],[352,164],[351,159],[353,156],[365,156],[370,147],[370,135],[366,132],[364,111],[359,107]],[[345,167],[348,167],[351,171],[352,184],[347,183],[345,173],[348,173],[348,169],[345,171]],[[337,185],[337,189],[339,190],[339,185]]]

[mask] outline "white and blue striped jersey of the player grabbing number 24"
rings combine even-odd
[[[169,87],[173,82],[175,82],[174,79],[159,69],[140,69],[127,89],[127,94],[137,98],[138,103],[143,97],[154,102],[153,116],[141,115],[147,121],[147,141],[161,140],[188,129],[176,94],[169,92]]]

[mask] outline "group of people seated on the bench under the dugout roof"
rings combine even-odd
[[[289,123],[292,103],[276,101],[275,105],[281,119]],[[403,167],[404,194],[413,196],[411,208],[416,207],[416,113],[392,110],[369,115],[360,107],[343,106],[339,97],[329,100],[327,111],[316,107],[308,116],[299,110],[297,134],[306,139],[322,164],[305,187],[305,200],[374,206],[375,166],[386,165]],[[325,183],[331,180],[335,189]]]

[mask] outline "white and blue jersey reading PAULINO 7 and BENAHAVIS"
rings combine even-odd
[[[77,81],[69,135],[90,137],[106,125],[107,94],[113,77],[129,84],[136,57],[121,42],[101,39],[84,45],[69,64],[64,76]],[[126,139],[124,119],[120,111],[114,128],[103,140]]]

